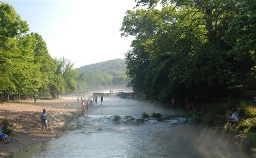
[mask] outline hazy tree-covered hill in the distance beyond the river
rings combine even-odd
[[[114,59],[95,64],[89,64],[76,71],[79,73],[77,81],[77,91],[83,92],[88,90],[98,90],[125,87],[129,82],[126,72],[124,59]]]

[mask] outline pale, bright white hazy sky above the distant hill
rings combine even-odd
[[[2,1],[14,6],[30,32],[41,34],[52,58],[70,59],[75,68],[124,59],[132,37],[120,37],[122,20],[134,0]]]

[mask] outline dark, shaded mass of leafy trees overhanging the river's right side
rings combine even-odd
[[[120,29],[135,37],[125,54],[134,91],[170,102],[218,99],[237,85],[255,89],[255,1],[136,2],[147,9],[128,10]]]

